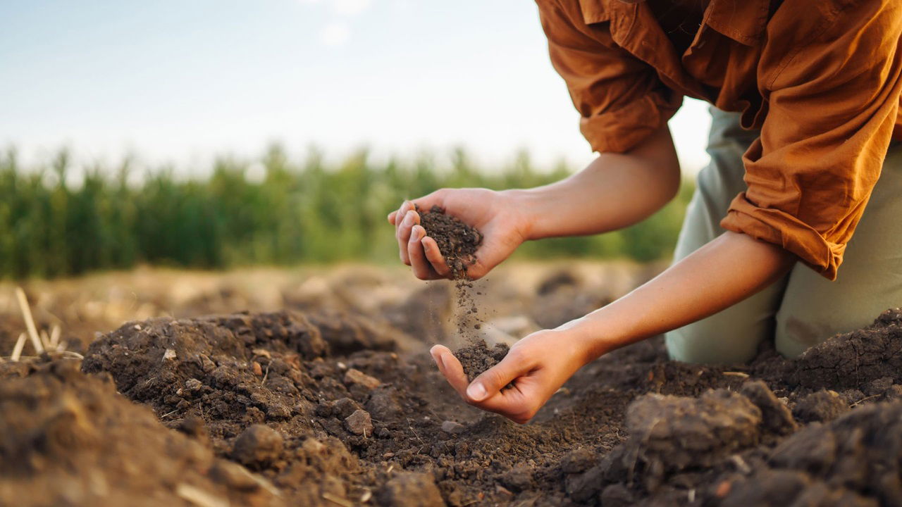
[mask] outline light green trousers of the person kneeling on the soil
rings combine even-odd
[[[695,195],[676,244],[674,261],[695,252],[724,230],[730,202],[746,189],[742,154],[758,136],[741,129],[739,114],[711,108],[711,163],[698,175]],[[902,144],[893,143],[836,281],[802,263],[768,289],[686,327],[667,333],[670,357],[689,363],[749,361],[759,344],[774,339],[787,357],[830,336],[870,324],[880,312],[902,306]]]

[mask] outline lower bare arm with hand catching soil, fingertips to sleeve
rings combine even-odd
[[[776,281],[795,262],[778,246],[728,232],[620,300],[523,338],[469,386],[450,350],[435,346],[432,355],[465,401],[526,422],[589,361],[732,306]],[[511,382],[514,389],[502,391]]]

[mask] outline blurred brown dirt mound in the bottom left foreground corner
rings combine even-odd
[[[163,428],[108,375],[60,360],[0,370],[0,504],[283,505],[278,489]]]

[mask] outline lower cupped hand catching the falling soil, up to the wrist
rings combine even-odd
[[[498,364],[467,385],[464,368],[446,346],[429,353],[467,403],[523,424],[588,362],[581,339],[566,329],[537,331],[511,346]],[[512,383],[513,387],[502,389]]]

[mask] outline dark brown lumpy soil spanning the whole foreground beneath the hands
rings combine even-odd
[[[522,426],[463,404],[417,335],[313,309],[154,318],[80,369],[2,363],[0,504],[902,504],[898,309],[795,360],[681,364],[651,339]]]

